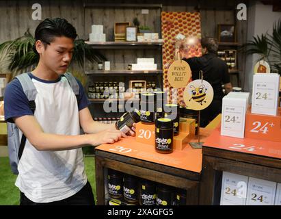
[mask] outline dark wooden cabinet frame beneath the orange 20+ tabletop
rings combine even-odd
[[[125,172],[156,183],[165,183],[187,191],[187,205],[198,205],[200,173],[180,170],[107,151],[95,150],[97,205],[105,205],[105,172],[107,168]]]

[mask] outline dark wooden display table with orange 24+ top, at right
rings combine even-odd
[[[224,171],[281,183],[280,142],[220,136],[219,127],[202,148],[200,205],[219,205]]]

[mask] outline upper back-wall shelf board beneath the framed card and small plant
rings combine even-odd
[[[85,41],[94,49],[149,49],[162,47],[163,42],[90,42]]]

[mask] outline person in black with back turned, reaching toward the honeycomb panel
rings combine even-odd
[[[176,40],[175,44],[175,60],[180,60],[180,54],[187,48],[188,39]],[[226,94],[232,91],[228,66],[226,62],[217,57],[218,44],[215,38],[202,38],[202,56],[183,58],[191,68],[192,80],[199,79],[199,72],[202,70],[203,79],[208,81],[214,90],[214,97],[211,105],[201,111],[200,127],[205,127],[211,120],[222,112],[222,84],[226,90]]]

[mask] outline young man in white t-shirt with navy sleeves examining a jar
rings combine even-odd
[[[114,125],[96,123],[79,81],[79,105],[66,77],[77,37],[62,18],[45,19],[35,31],[40,60],[29,73],[38,92],[34,114],[18,79],[5,91],[5,120],[27,137],[15,185],[21,205],[93,205],[81,147],[113,143],[126,135]],[[80,127],[87,134],[80,135]],[[131,135],[134,132],[131,131]]]

